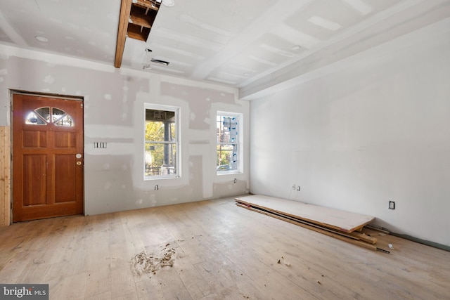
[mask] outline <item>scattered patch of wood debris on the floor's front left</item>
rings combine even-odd
[[[148,254],[146,250],[139,252],[131,259],[131,268],[138,274],[155,275],[160,268],[174,266],[175,249],[166,244],[160,254]]]

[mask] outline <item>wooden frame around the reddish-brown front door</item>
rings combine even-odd
[[[32,92],[32,91],[23,91],[23,90],[18,90],[18,89],[9,89],[9,100],[10,100],[10,137],[11,137],[11,148],[10,148],[10,153],[11,153],[11,160],[10,160],[10,164],[9,164],[9,174],[10,174],[10,178],[9,178],[9,185],[10,185],[10,222],[9,225],[11,225],[13,223],[13,209],[14,209],[14,201],[13,201],[13,194],[14,194],[14,186],[13,186],[13,153],[14,153],[14,149],[13,149],[13,96],[14,94],[21,94],[21,95],[29,95],[29,96],[43,96],[43,97],[49,97],[49,98],[58,98],[58,99],[65,99],[65,100],[75,100],[75,101],[79,101],[81,103],[84,104],[84,97],[83,96],[69,96],[69,95],[61,95],[61,94],[56,94],[56,93],[41,93],[41,92]],[[83,105],[84,107],[84,105]],[[83,109],[83,114],[82,114],[82,119],[83,119],[83,125],[82,125],[82,131],[83,131],[83,139],[82,139],[82,145],[83,145],[83,150],[82,150],[82,157],[84,158],[84,109]],[[85,162],[85,159],[83,159],[83,161]],[[82,180],[82,215],[85,216],[86,215],[86,200],[84,197],[84,178],[86,176],[86,172],[85,172],[85,168],[84,168],[85,164],[83,164],[83,180]]]

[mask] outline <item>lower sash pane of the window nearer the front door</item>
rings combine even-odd
[[[146,176],[176,174],[176,144],[146,143]]]

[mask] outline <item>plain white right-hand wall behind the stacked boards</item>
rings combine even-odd
[[[444,20],[252,100],[250,192],[449,246],[449,53]]]

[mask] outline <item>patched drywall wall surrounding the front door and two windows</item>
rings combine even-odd
[[[0,76],[0,126],[11,124],[11,90],[84,98],[86,214],[248,193],[248,145],[243,173],[216,172],[217,110],[243,114],[248,139],[250,104],[236,89],[10,46],[0,46]],[[181,178],[143,178],[144,103],[181,107]]]

